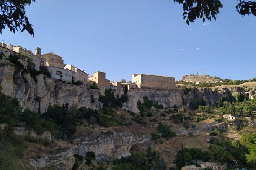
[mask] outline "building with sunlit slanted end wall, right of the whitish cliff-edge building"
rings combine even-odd
[[[81,81],[83,83],[88,84],[88,76],[89,76],[89,74],[84,72],[84,70],[80,70],[77,67],[75,67],[74,65],[70,65],[70,64],[66,64],[64,69],[68,69],[68,70],[72,70],[73,71],[73,83],[77,82],[79,80],[79,81]]]

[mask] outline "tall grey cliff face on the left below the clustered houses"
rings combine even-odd
[[[15,97],[24,109],[46,112],[49,105],[54,104],[77,104],[78,107],[90,107],[100,109],[99,93],[91,90],[86,85],[75,86],[62,82],[55,82],[53,79],[42,74],[36,76],[35,80],[29,73],[15,71],[13,64],[0,60],[0,86],[2,93]],[[91,95],[95,102],[91,103]]]

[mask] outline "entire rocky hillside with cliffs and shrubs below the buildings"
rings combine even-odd
[[[219,165],[256,162],[246,157],[254,143],[244,142],[254,141],[256,82],[136,89],[123,103],[105,96],[106,105],[87,86],[0,64],[0,169],[149,170],[164,160],[178,170],[181,144],[186,165],[194,150]],[[220,150],[225,159],[212,154]]]

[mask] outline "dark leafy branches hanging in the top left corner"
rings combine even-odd
[[[11,32],[28,31],[34,37],[34,30],[26,16],[25,6],[35,0],[1,0],[0,1],[0,33],[7,26]]]

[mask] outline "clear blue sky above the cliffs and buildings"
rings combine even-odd
[[[89,75],[106,72],[111,81],[134,73],[178,80],[197,67],[221,78],[256,77],[256,17],[240,16],[236,0],[222,3],[217,21],[188,26],[173,0],[36,0],[26,7],[34,38],[8,29],[0,36],[31,51],[52,51]]]

